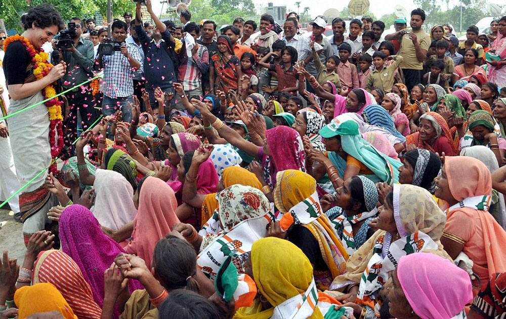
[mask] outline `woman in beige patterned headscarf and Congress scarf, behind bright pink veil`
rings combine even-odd
[[[346,294],[325,293],[353,307],[357,317],[374,318],[375,305],[381,306],[383,301],[380,290],[391,281],[391,271],[402,256],[427,252],[450,259],[440,242],[445,222],[445,214],[429,191],[394,184],[384,206],[379,208],[378,218],[371,223],[378,230],[350,256],[346,273],[336,277],[330,286],[331,290]]]

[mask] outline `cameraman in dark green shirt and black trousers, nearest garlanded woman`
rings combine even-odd
[[[73,43],[70,48],[60,49],[56,44],[60,58],[67,64],[67,70],[61,81],[63,90],[70,89],[93,77],[95,64],[93,43],[88,39],[81,38],[83,30],[81,20],[74,17],[70,19],[70,22],[75,23],[75,36],[72,38]],[[65,94],[69,114],[66,115],[68,120],[64,127],[64,153],[68,157],[75,155],[72,142],[77,138],[77,129],[85,131],[97,119],[98,113],[94,108],[96,101],[92,91],[90,83],[87,83]],[[80,123],[78,123],[79,117]]]

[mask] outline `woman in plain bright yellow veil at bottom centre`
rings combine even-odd
[[[292,243],[267,237],[251,247],[250,258],[245,264],[246,273],[253,278],[258,296],[251,307],[237,309],[234,319],[268,319],[274,313],[292,313],[299,303],[287,305],[285,301],[302,297],[314,286],[313,268],[306,255]],[[311,292],[311,291],[310,291]],[[316,292],[316,299],[318,298]],[[314,295],[299,308],[301,317],[323,319],[316,306]]]

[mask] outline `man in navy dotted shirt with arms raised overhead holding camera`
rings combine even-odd
[[[164,93],[174,93],[173,84],[176,82],[175,40],[167,30],[165,24],[156,16],[151,8],[151,0],[146,1],[146,8],[153,19],[156,30],[153,39],[147,37],[141,21],[141,4],[137,3],[135,31],[144,51],[144,76],[146,77],[146,91],[149,93],[151,105],[155,104],[154,90],[157,87]],[[171,100],[174,105],[174,99]],[[160,113],[162,111],[160,110]]]

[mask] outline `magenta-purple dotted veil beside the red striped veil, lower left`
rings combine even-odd
[[[119,253],[125,251],[109,238],[93,216],[81,205],[67,207],[60,216],[61,250],[79,266],[82,276],[90,284],[93,299],[102,308],[104,304],[104,272]],[[149,266],[148,266],[149,267]],[[144,289],[136,280],[129,281],[129,290]],[[114,318],[121,313],[114,307]]]

